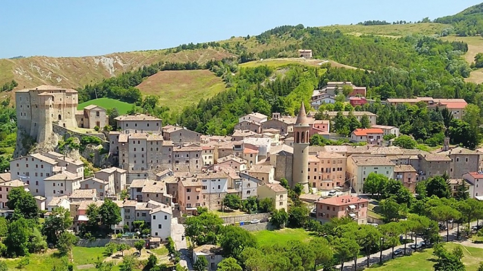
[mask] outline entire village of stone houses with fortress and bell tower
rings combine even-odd
[[[351,82],[329,82],[314,90],[311,108],[335,103],[339,91],[347,92],[346,103],[353,107],[374,102],[365,97],[365,88]],[[59,207],[69,210],[70,230],[77,234],[89,223],[87,214],[92,205],[112,201],[121,210],[121,220],[112,225],[114,232],[134,232],[143,221],[149,229],[147,243],[156,245],[171,239],[179,246],[186,242],[181,224],[186,217],[230,210],[233,199],[259,205],[268,201],[273,205],[270,210],[288,212],[294,200],[291,191],[297,190],[299,200],[313,206],[312,219],[317,223],[345,217],[359,224],[378,223],[380,217],[368,211],[364,197],[366,179],[373,174],[396,180],[413,194],[417,183],[444,175],[451,194],[465,185],[470,198],[483,199],[483,187],[479,186],[482,152],[451,146],[449,139],[432,152],[394,146],[400,128],[377,125],[378,116],[371,112],[326,111],[326,117],[320,119],[318,111],[307,110],[301,103],[296,116],[276,112],[272,116],[258,112],[241,116],[233,134],[221,137],[164,125],[148,114],[121,115],[115,117],[117,127],[99,130],[109,124],[107,110],[100,106],[77,110],[77,91],[72,89],[38,86],[18,90],[15,99],[19,131],[38,144],[50,144],[53,137],[71,144],[72,139],[89,138],[88,142],[102,145],[108,157],[99,170],[89,172],[85,159],[72,157],[67,151],[16,152],[10,172],[0,174],[4,215],[14,212],[7,204],[9,189],[21,188],[34,196],[46,217]],[[394,106],[421,102],[428,109],[449,110],[454,119],[461,119],[466,107],[464,99],[384,101]],[[365,123],[364,128],[352,130],[348,143],[311,144],[314,136],[333,139],[331,126],[341,114],[352,114]],[[260,221],[268,221],[268,214],[251,214],[250,207],[244,211],[239,217],[224,218],[224,223],[255,226],[250,230],[267,227]],[[213,248],[193,250],[193,261],[206,255],[207,249],[208,254],[215,253]],[[207,259],[216,266],[223,257]]]

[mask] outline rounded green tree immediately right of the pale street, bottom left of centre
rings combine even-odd
[[[207,212],[198,217],[188,217],[185,234],[195,245],[216,244],[224,221],[216,214]]]

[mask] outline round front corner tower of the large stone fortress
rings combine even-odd
[[[37,97],[39,99],[39,123],[35,123],[39,131],[37,133],[37,142],[44,142],[52,135],[52,104],[54,103],[54,95],[42,92]]]

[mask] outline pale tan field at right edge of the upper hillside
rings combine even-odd
[[[475,61],[475,56],[479,52],[483,52],[483,38],[477,37],[456,37],[448,36],[441,38],[444,41],[463,41],[468,44],[468,52],[464,54],[464,59],[468,63]],[[466,82],[483,83],[483,68],[475,69],[471,72],[470,77],[465,79]]]

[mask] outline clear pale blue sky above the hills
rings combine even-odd
[[[283,25],[419,21],[482,0],[2,1],[0,58],[82,57],[256,35]]]

